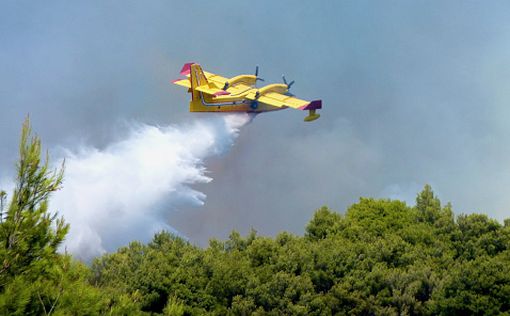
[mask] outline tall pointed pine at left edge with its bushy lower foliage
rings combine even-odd
[[[57,253],[69,226],[48,211],[63,167],[50,171],[40,159],[41,142],[23,124],[16,187],[10,202],[0,193],[0,314],[94,315],[103,304],[88,283],[89,269]]]

